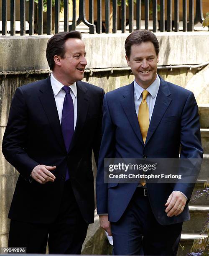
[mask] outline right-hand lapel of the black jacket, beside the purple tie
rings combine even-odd
[[[77,87],[77,120],[76,120],[76,127],[74,131],[74,135],[70,144],[69,151],[75,146],[77,139],[82,131],[83,125],[85,123],[87,112],[89,108],[89,100],[90,97],[87,95],[87,88],[85,87],[84,83],[81,81],[76,82]]]

